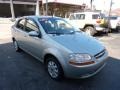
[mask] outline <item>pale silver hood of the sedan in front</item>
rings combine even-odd
[[[85,33],[51,35],[50,37],[73,53],[95,55],[104,49],[104,46],[98,40],[92,36],[87,36]]]

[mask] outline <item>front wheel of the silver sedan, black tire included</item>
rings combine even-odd
[[[55,57],[46,59],[46,69],[49,76],[54,80],[61,80],[63,77],[63,69]]]

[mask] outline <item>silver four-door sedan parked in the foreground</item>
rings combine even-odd
[[[12,40],[16,51],[22,49],[40,60],[55,80],[93,76],[108,56],[98,40],[59,17],[22,17],[12,26]]]

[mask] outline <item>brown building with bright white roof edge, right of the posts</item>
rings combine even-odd
[[[46,0],[42,1],[45,10]],[[83,11],[86,5],[83,0],[48,0],[48,14],[67,17],[71,12]]]

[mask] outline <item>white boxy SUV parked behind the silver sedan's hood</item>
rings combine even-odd
[[[97,32],[108,32],[105,27],[102,27],[106,24],[104,16],[104,14],[94,11],[78,12],[71,13],[69,20],[74,26],[85,31],[88,35],[94,35]]]

